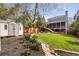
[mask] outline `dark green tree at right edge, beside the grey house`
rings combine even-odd
[[[79,35],[79,10],[77,11],[77,13],[74,16],[74,20],[75,22],[73,22],[70,26],[70,33],[74,34],[74,35]]]

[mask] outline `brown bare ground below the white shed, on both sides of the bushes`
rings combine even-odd
[[[1,39],[0,56],[21,56],[21,53],[28,50],[27,43],[23,43],[23,37],[7,37]],[[39,51],[30,50],[31,56],[44,56],[42,48]]]

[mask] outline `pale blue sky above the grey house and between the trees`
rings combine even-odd
[[[9,4],[9,6],[12,6]],[[76,12],[79,10],[79,3],[58,3],[58,8],[52,8],[52,7],[47,7],[48,11],[41,11],[43,15],[45,16],[45,19],[47,20],[48,18],[55,17],[55,16],[60,16],[60,15],[65,15],[65,11],[68,11],[68,16],[72,17],[76,14]]]

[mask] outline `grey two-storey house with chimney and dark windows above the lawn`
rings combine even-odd
[[[47,27],[53,31],[64,32],[67,34],[68,27],[72,22],[73,19],[68,17],[68,11],[65,11],[65,15],[49,18]]]

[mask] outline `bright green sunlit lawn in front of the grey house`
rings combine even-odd
[[[79,41],[76,37],[66,34],[45,33],[35,34],[39,40],[47,43],[51,48],[59,48],[79,52]]]

